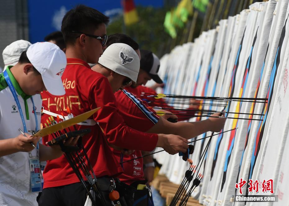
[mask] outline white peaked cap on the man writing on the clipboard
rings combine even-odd
[[[26,55],[41,74],[48,92],[53,95],[64,95],[61,76],[67,64],[65,53],[54,43],[37,42],[28,48]]]

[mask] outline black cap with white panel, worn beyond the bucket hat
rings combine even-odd
[[[163,81],[158,76],[159,58],[151,51],[144,49],[140,49],[140,57],[140,69],[146,71],[156,83],[162,84]]]

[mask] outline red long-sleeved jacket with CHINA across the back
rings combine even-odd
[[[92,71],[86,62],[68,58],[62,81],[66,91],[65,95],[54,96],[48,92],[41,94],[45,110],[57,114],[63,112],[64,115],[67,115],[66,108],[69,107],[73,115],[77,116],[101,107],[91,117],[98,124],[94,126],[77,125],[79,129],[87,127],[91,129],[91,133],[82,138],[82,143],[97,177],[116,176],[123,172],[119,161],[108,146],[108,142],[126,149],[152,151],[155,148],[158,135],[143,133],[126,126],[116,108],[116,99],[107,78]],[[48,115],[44,114],[41,122],[46,122],[47,118]],[[49,135],[43,137],[43,142],[52,139],[53,136]],[[49,160],[43,175],[44,188],[79,182],[63,155],[60,158]]]

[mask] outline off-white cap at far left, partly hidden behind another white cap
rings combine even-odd
[[[4,70],[8,65],[14,66],[17,64],[22,52],[27,51],[30,45],[31,43],[29,41],[22,39],[9,44],[2,52],[3,62],[5,64]]]

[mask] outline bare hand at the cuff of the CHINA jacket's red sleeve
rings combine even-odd
[[[162,147],[169,154],[185,153],[189,148],[188,140],[178,135],[158,134],[157,147]]]

